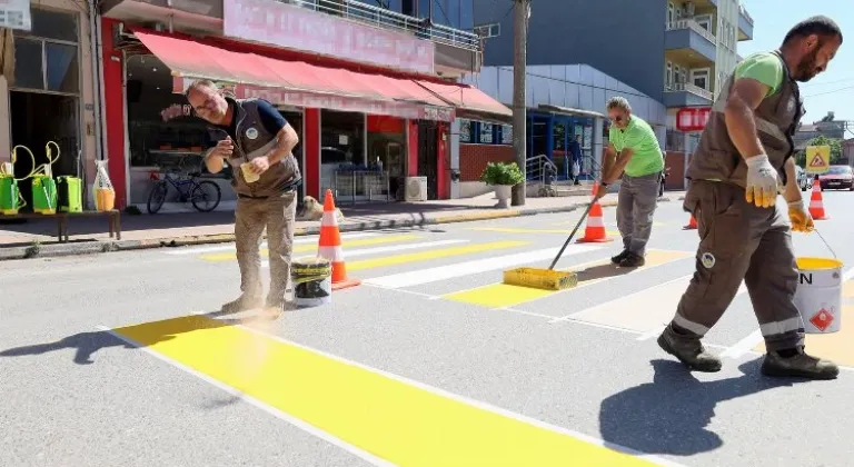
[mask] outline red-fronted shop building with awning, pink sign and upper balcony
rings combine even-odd
[[[470,0],[431,2],[105,1],[105,125],[118,205],[145,205],[165,167],[200,167],[205,123],[182,96],[197,78],[277,106],[300,135],[301,195],[450,198],[456,118],[512,112],[456,82],[481,62],[480,41],[465,30]],[[228,180],[218,182],[228,201]]]

